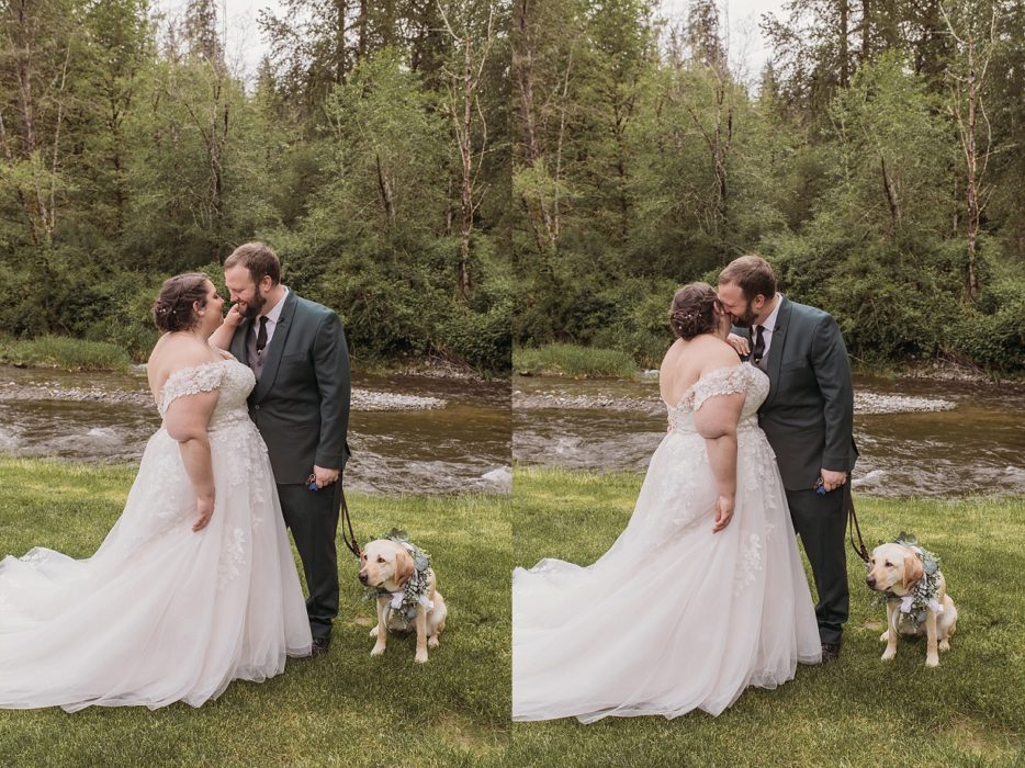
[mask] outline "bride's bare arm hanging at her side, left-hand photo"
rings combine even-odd
[[[193,531],[203,530],[214,513],[214,471],[206,427],[219,392],[213,389],[179,397],[168,406],[164,418],[168,434],[178,441],[182,464],[195,490]]]

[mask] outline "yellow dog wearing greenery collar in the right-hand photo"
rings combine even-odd
[[[938,667],[939,651],[950,650],[957,629],[957,608],[936,560],[922,547],[898,540],[872,550],[868,565],[868,587],[887,594],[887,631],[879,637],[887,644],[882,660],[897,656],[898,634],[925,633],[925,666]],[[920,611],[924,611],[924,621],[919,620]]]

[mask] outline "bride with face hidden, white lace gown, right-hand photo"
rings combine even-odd
[[[671,429],[633,516],[597,562],[512,576],[512,719],[713,715],[821,646],[787,498],[716,292],[673,298],[661,369]]]

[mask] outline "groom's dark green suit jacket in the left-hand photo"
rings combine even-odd
[[[232,338],[232,354],[246,364],[251,332],[246,319]],[[249,416],[267,443],[274,479],[305,483],[314,464],[343,470],[351,380],[338,315],[289,291],[264,354]]]

